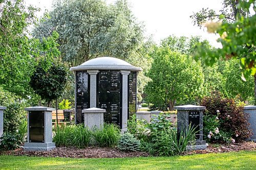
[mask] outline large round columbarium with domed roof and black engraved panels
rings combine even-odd
[[[105,123],[127,129],[127,119],[136,112],[137,74],[142,69],[126,61],[99,57],[71,67],[75,74],[75,123],[84,123],[82,110],[105,109]]]

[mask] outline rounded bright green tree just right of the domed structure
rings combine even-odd
[[[204,93],[204,76],[199,63],[168,47],[158,47],[147,76],[152,79],[146,86],[146,100],[156,106],[194,102]]]

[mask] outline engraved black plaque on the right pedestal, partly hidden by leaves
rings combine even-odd
[[[191,124],[191,127],[196,128],[196,139],[200,137],[200,112],[199,111],[189,111],[188,112],[188,124]]]

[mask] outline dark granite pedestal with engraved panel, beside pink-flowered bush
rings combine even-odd
[[[188,145],[187,150],[205,150],[206,142],[203,140],[203,111],[204,106],[184,105],[176,106],[178,135],[182,130],[187,130],[189,125],[196,128],[196,143]]]

